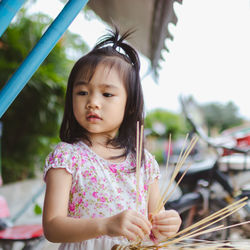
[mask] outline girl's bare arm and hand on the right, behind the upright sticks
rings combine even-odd
[[[159,183],[156,179],[150,186],[149,219],[152,222],[152,232],[157,240],[166,239],[175,234],[181,225],[181,218],[175,210],[165,210],[164,206],[158,214],[154,214],[160,199]]]

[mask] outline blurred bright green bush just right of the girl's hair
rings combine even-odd
[[[163,109],[149,112],[145,118],[145,128],[151,131],[152,136],[177,138],[185,133],[186,124],[181,115]]]

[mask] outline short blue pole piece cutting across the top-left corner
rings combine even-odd
[[[0,0],[0,37],[25,0]]]

